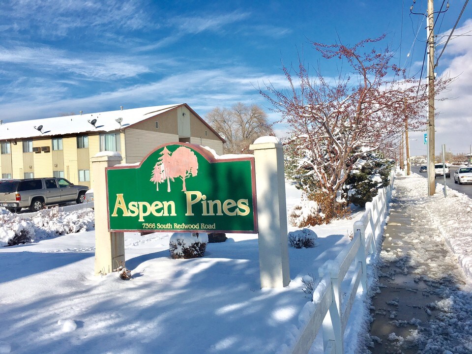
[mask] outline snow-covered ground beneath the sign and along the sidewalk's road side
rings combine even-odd
[[[427,198],[426,178],[409,182],[415,198]],[[299,200],[287,184],[287,207]],[[445,235],[460,235],[449,242],[471,275],[471,200],[451,190],[444,199],[438,188],[425,204]],[[315,248],[289,248],[292,281],[284,289],[260,289],[255,235],[228,234],[226,242],[208,244],[203,258],[173,260],[171,234],[126,233],[130,280],[93,275],[94,231],[1,247],[0,354],[278,353],[293,340],[310,301],[302,277],[316,276],[350,242],[361,213],[312,228]],[[347,328],[347,353],[362,320]],[[322,350],[317,338],[311,352]]]

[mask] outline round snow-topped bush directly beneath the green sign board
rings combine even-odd
[[[173,259],[203,257],[207,243],[207,233],[175,233],[169,240],[169,252]]]

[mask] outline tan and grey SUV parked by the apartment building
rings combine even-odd
[[[38,211],[46,204],[72,201],[80,204],[84,203],[88,189],[65,178],[11,179],[0,183],[0,207],[10,211],[29,207],[30,211]]]

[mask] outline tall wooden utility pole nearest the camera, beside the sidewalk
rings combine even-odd
[[[428,195],[436,193],[434,172],[434,4],[428,0]]]

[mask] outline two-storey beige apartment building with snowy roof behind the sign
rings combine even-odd
[[[96,153],[118,151],[122,163],[136,163],[172,142],[223,153],[224,139],[187,104],[0,123],[1,177],[64,177],[91,187]]]

